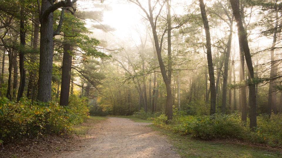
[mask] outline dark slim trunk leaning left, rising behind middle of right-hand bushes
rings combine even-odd
[[[215,113],[215,105],[216,105],[216,91],[215,91],[215,83],[214,83],[214,67],[212,63],[212,44],[211,44],[211,36],[209,32],[209,22],[207,19],[205,4],[203,0],[199,0],[201,15],[204,22],[204,28],[206,32],[206,42],[207,42],[207,60],[208,60],[208,68],[209,68],[209,83],[211,89],[211,109],[210,115]]]

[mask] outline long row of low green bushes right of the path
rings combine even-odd
[[[168,124],[165,124],[164,114],[155,118],[153,124],[160,128],[172,130],[183,135],[192,135],[203,140],[238,139],[250,142],[264,143],[272,147],[282,146],[282,115],[257,117],[258,127],[251,131],[241,123],[240,114],[214,114],[213,116],[190,116],[175,114]]]

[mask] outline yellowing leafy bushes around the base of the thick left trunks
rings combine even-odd
[[[0,140],[9,141],[21,137],[37,137],[44,134],[67,134],[72,126],[88,117],[86,99],[70,96],[67,107],[57,102],[31,103],[21,99],[15,103],[0,98]]]

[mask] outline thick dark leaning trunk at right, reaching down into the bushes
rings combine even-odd
[[[238,37],[239,37],[239,45],[243,47],[244,50],[244,55],[248,67],[248,76],[249,79],[251,80],[249,90],[250,90],[250,128],[253,129],[254,127],[257,126],[256,123],[256,87],[255,83],[252,83],[254,81],[254,68],[253,68],[253,63],[252,63],[252,58],[251,58],[251,53],[249,49],[249,44],[248,44],[248,37],[247,37],[247,32],[244,29],[242,18],[240,15],[240,4],[239,0],[230,0],[231,7],[233,10],[234,17],[237,22],[237,28],[238,28]]]

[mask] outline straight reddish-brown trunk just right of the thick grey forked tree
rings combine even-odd
[[[73,48],[67,42],[68,41],[65,41],[65,43],[63,44],[64,53],[63,53],[62,82],[61,82],[61,95],[60,95],[61,106],[68,106],[68,98],[70,95],[70,77],[71,77],[71,64],[72,64],[71,53],[73,51]]]

